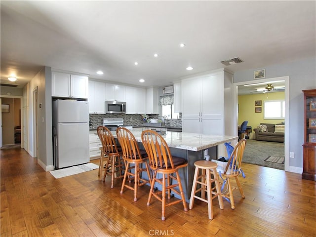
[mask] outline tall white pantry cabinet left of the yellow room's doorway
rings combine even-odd
[[[232,97],[224,95],[226,87],[233,85],[232,75],[226,74],[223,70],[215,70],[181,81],[182,131],[233,135],[224,124],[232,119],[225,118],[225,111],[233,108]]]

